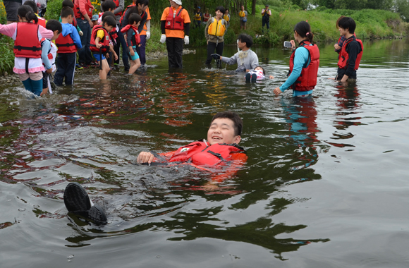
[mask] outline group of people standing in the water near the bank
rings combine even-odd
[[[116,12],[114,8],[119,3],[116,2],[118,1],[106,0],[102,2],[102,8],[105,8],[106,11],[101,13],[100,22],[93,26],[91,34],[90,47],[95,59],[99,61],[99,66],[101,66],[99,71],[101,79],[106,79],[106,75],[109,73],[109,66],[106,63],[109,54],[111,54],[111,58],[118,59],[118,52],[114,50],[113,43],[120,32],[121,35],[126,37],[126,47],[123,47],[123,51],[126,52],[125,54],[128,57],[123,54],[123,62],[128,64],[128,58],[130,58],[131,66],[128,67],[130,73],[135,72],[140,66],[140,57],[138,56],[138,54],[142,54],[140,32],[145,34],[145,38],[143,38],[144,45],[146,39],[150,37],[150,25],[147,23],[149,0],[134,0],[133,4],[128,6],[121,16],[114,14]],[[182,7],[181,0],[169,0],[169,3],[170,6],[165,8],[161,15],[162,34],[160,42],[166,42],[169,68],[181,68],[183,66],[183,44],[189,44],[190,18],[188,11]],[[92,8],[90,9],[92,10]],[[78,12],[74,12],[74,10]],[[32,11],[32,8],[27,5],[19,8],[18,23],[0,25],[0,33],[15,39],[14,53],[16,54],[16,60],[13,71],[18,73],[27,90],[32,91],[35,95],[44,92],[43,87],[47,83],[44,83],[43,78],[48,79],[48,75],[43,73],[48,74],[54,71],[55,67],[53,65],[56,54],[58,54],[56,66],[60,70],[57,70],[58,75],[56,76],[58,78],[55,81],[62,85],[63,78],[65,78],[66,85],[73,84],[75,54],[84,45],[79,41],[80,35],[78,35],[83,32],[81,30],[77,32],[73,19],[77,18],[77,22],[81,22],[83,17],[90,18],[90,16],[92,17],[92,13],[87,11],[83,14],[80,12],[80,8],[75,8],[71,0],[65,0],[61,11],[62,28],[57,25],[59,23],[54,21],[49,23],[49,27],[46,27],[45,23],[39,25],[41,24],[39,22],[44,19],[39,20],[35,11]],[[223,6],[218,6],[215,8],[215,16],[211,16],[207,20],[204,28],[204,37],[207,40],[207,59],[205,63],[209,66],[212,59],[216,59],[219,64],[221,62],[237,64],[236,71],[247,72],[245,78],[252,82],[265,78],[264,68],[259,66],[257,54],[250,49],[252,47],[252,37],[250,35],[238,35],[237,44],[238,49],[240,49],[238,53],[231,57],[222,56],[224,35],[228,28],[228,20],[224,18],[226,18],[226,9]],[[119,19],[119,22],[117,22],[117,19]],[[117,23],[121,25],[121,30],[118,29]],[[338,72],[335,79],[346,82],[350,79],[356,79],[356,70],[362,58],[363,45],[362,41],[355,37],[356,25],[352,18],[341,17],[338,19],[336,26],[341,37],[337,44],[334,45],[339,54]],[[24,35],[21,34],[22,32]],[[29,33],[30,35],[28,35]],[[60,35],[61,33],[62,35]],[[48,39],[48,42],[46,39]],[[54,39],[58,50],[52,44],[50,45],[50,41]],[[293,54],[291,54],[288,79],[283,85],[274,89],[274,94],[279,95],[288,88],[293,90],[293,96],[305,96],[312,93],[315,85],[317,85],[319,68],[319,49],[317,44],[314,44],[313,39],[314,34],[306,21],[301,21],[295,25],[294,40],[291,40]],[[298,43],[298,47],[295,42]],[[44,44],[47,44],[46,49],[44,49]],[[53,48],[54,50],[52,50]],[[145,52],[145,49],[143,49],[143,52]],[[67,57],[68,54],[72,55]],[[47,58],[49,61],[47,61]],[[66,64],[68,59],[69,66]],[[270,75],[269,78],[274,77]]]

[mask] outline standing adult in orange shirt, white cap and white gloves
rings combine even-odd
[[[190,18],[181,0],[169,0],[161,17],[161,43],[166,42],[169,68],[182,68],[183,42],[189,44]]]

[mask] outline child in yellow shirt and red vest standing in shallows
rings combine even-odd
[[[106,75],[108,75],[110,71],[108,61],[106,61],[105,58],[108,52],[111,50],[112,54],[114,54],[114,58],[118,59],[114,49],[109,45],[109,32],[115,27],[115,19],[111,16],[106,16],[106,18],[102,20],[102,25],[94,26],[92,29],[90,49],[92,54],[94,54],[94,58],[97,59],[99,63],[99,78],[102,80],[106,79]]]

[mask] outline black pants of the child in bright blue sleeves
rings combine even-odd
[[[54,83],[56,85],[63,85],[64,78],[66,79],[66,85],[73,85],[76,61],[76,52],[58,53],[56,59],[57,71],[54,75]]]

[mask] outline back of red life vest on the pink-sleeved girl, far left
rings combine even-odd
[[[14,55],[22,58],[41,58],[41,42],[38,39],[39,25],[35,23],[17,23]]]

